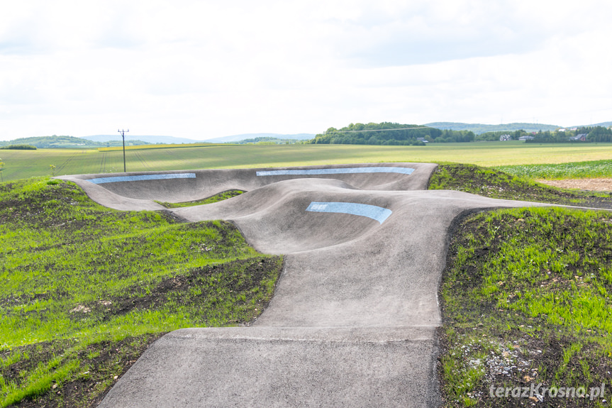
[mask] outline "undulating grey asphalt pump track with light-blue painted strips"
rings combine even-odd
[[[437,293],[453,220],[464,211],[547,204],[427,191],[435,167],[61,177],[121,210],[243,189],[170,211],[187,221],[232,221],[257,250],[285,255],[272,302],[252,326],[168,333],[100,407],[440,406]]]

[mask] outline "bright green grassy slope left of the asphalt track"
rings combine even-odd
[[[255,319],[282,268],[226,222],[48,177],[0,184],[0,236],[0,407],[93,407],[162,333]]]

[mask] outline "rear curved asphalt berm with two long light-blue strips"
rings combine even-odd
[[[262,169],[130,172],[113,175],[62,176],[79,184],[89,197],[121,210],[163,209],[161,202],[189,202],[230,189],[251,191],[283,180],[315,178],[342,180],[359,189],[424,189],[435,165],[376,163]],[[406,177],[410,175],[411,177]]]

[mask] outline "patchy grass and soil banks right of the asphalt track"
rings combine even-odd
[[[612,206],[612,194],[563,191],[470,166],[440,166],[430,184]],[[611,212],[533,208],[466,216],[452,235],[440,287],[445,407],[610,407],[611,295]],[[596,397],[602,383],[607,394]],[[521,395],[528,390],[525,397],[516,387]],[[580,387],[587,397],[577,397]]]

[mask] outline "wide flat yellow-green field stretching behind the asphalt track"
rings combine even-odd
[[[5,181],[27,177],[123,172],[121,150],[4,150]],[[612,144],[522,142],[430,143],[427,146],[213,145],[126,150],[128,171],[280,167],[360,162],[460,162],[485,167],[611,160]]]

